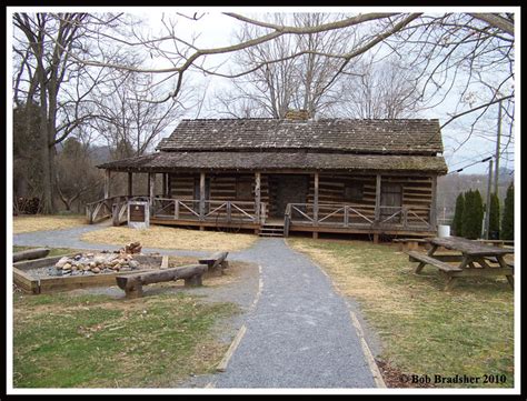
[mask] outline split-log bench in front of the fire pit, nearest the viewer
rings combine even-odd
[[[125,290],[127,298],[142,297],[142,285],[156,282],[185,280],[186,287],[202,284],[202,275],[207,271],[207,264],[189,264],[172,269],[158,269],[135,274],[116,277],[117,285]]]

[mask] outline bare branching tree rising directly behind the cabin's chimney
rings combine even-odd
[[[342,16],[322,13],[294,13],[290,17],[299,28],[314,28],[339,18]],[[287,22],[284,14],[272,14],[265,20],[275,26]],[[236,39],[238,42],[255,40],[264,30],[247,24]],[[232,89],[217,96],[220,112],[232,117],[284,118],[289,108],[295,108],[307,110],[310,116],[335,113],[336,106],[345,101],[342,91],[349,88],[346,82],[350,77],[365,77],[365,73],[357,68],[359,56],[341,70],[339,60],[326,54],[347,53],[359,48],[361,41],[362,34],[347,28],[284,36],[241,50],[235,57],[236,64],[251,72],[232,79]]]

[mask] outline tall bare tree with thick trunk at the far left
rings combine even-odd
[[[101,19],[87,13],[13,14],[13,52],[21,61],[14,64],[14,103],[38,104],[44,213],[54,211],[56,146],[91,118],[79,114],[79,104],[103,81],[107,70],[88,69],[76,61],[77,57],[91,58],[103,53],[98,51],[100,43],[90,46],[92,38],[86,27],[90,26],[90,30],[108,29],[116,19],[115,16]]]

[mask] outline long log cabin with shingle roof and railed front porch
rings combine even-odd
[[[447,172],[436,119],[310,119],[302,111],[182,120],[155,153],[98,167],[106,170],[105,199],[89,205],[90,221],[105,204],[119,223],[135,197],[133,174],[143,173],[153,224],[364,233],[375,241],[436,234],[436,182]],[[109,197],[111,172],[128,173],[127,196]]]

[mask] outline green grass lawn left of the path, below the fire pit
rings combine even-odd
[[[213,324],[238,312],[180,293],[16,293],[13,309],[14,388],[177,387],[216,369],[228,344]]]

